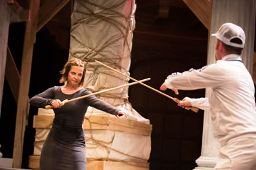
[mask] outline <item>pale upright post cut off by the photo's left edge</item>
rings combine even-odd
[[[7,1],[0,1],[0,117],[5,80],[7,41],[10,24],[10,6]]]

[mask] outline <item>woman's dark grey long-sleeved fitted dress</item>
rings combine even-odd
[[[46,105],[50,105],[54,99],[63,101],[89,94],[91,91],[81,88],[76,93],[67,95],[61,91],[61,86],[54,86],[32,97],[30,104],[44,108]],[[86,169],[85,135],[82,125],[88,106],[112,115],[116,115],[119,111],[95,96],[69,102],[61,108],[54,108],[55,117],[52,128],[41,151],[41,170]]]

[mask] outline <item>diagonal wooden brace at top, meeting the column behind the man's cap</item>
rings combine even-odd
[[[190,10],[197,15],[198,19],[206,26],[206,28],[210,28],[210,17],[211,17],[211,8],[212,3],[207,0],[183,0],[184,3],[190,8]]]

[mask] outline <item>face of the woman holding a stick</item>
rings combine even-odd
[[[82,77],[83,68],[79,66],[71,66],[67,82],[72,86],[76,86],[80,83]]]

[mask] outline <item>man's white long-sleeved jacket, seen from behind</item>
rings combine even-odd
[[[213,133],[220,144],[245,133],[256,133],[254,84],[239,55],[226,55],[199,70],[173,73],[167,88],[209,88],[209,97],[193,99],[192,106],[211,110]]]

